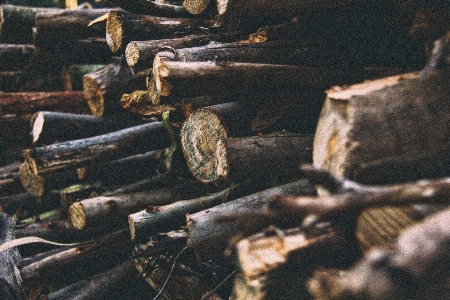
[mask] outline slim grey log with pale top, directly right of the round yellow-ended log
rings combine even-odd
[[[229,201],[230,188],[212,195],[176,201],[168,205],[153,205],[130,214],[128,223],[131,239],[142,241],[160,232],[176,230],[186,224],[186,215]]]

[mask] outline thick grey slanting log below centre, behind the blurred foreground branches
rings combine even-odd
[[[285,195],[314,195],[315,189],[305,180],[270,188],[257,192],[213,208],[188,215],[187,245],[193,248],[200,261],[207,261],[214,257],[223,257],[230,240],[235,236],[250,235],[269,225],[264,219],[242,219],[241,222],[232,220],[218,222],[218,218],[230,214],[245,214],[260,211],[268,204],[268,199],[277,194]],[[256,222],[257,221],[257,222]]]

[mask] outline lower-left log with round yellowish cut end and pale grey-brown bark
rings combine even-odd
[[[78,229],[100,222],[123,222],[126,224],[128,215],[148,206],[171,204],[178,201],[179,197],[175,191],[168,189],[94,197],[72,204],[69,207],[69,216],[72,224]]]

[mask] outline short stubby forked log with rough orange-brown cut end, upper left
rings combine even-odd
[[[134,71],[122,58],[83,76],[83,92],[94,116],[123,112],[119,101],[123,94],[146,86],[146,71]]]

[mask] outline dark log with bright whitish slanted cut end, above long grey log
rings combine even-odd
[[[40,111],[31,119],[34,145],[82,139],[132,127],[141,123],[133,118],[100,118],[91,115]]]

